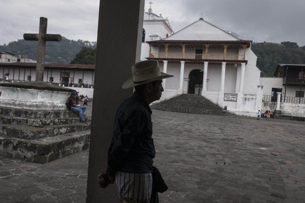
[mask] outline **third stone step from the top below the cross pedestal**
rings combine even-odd
[[[88,130],[91,128],[91,123],[75,123],[53,125],[43,128],[35,128],[31,126],[1,124],[0,136],[10,136],[23,139],[39,139],[44,137],[52,137],[66,133],[74,133],[78,131]]]

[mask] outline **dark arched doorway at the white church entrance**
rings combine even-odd
[[[203,71],[199,69],[192,70],[188,76],[190,79],[188,81],[188,93],[195,94],[195,86],[196,86],[196,94],[200,94],[202,90],[203,83]],[[200,89],[197,89],[200,88]],[[199,91],[198,91],[199,90]]]

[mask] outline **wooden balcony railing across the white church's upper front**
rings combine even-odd
[[[208,54],[206,58],[206,54],[171,54],[167,53],[151,53],[150,58],[179,58],[179,59],[210,59],[210,60],[234,60],[234,61],[242,61],[242,55],[226,55],[224,59],[224,54]]]

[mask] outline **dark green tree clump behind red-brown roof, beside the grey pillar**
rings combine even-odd
[[[96,48],[81,47],[71,64],[95,64]]]

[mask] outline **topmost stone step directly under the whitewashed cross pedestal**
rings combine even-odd
[[[27,110],[9,107],[0,107],[0,115],[29,117],[29,118],[69,118],[78,117],[69,110]]]

